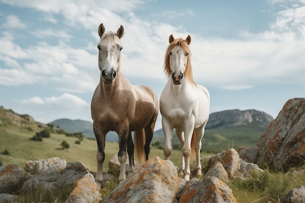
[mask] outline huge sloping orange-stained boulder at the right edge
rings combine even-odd
[[[258,166],[286,171],[305,160],[305,98],[289,99],[274,121],[251,147],[238,148],[239,156]]]

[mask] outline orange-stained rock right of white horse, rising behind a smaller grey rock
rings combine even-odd
[[[228,178],[231,180],[239,171],[240,160],[238,152],[231,148],[227,151],[220,152],[209,159],[208,166],[212,166],[215,162],[220,162],[228,173]]]

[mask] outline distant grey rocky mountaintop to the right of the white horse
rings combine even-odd
[[[206,129],[246,126],[252,122],[260,122],[263,125],[262,128],[266,128],[271,121],[273,121],[273,118],[262,111],[228,110],[211,113]]]

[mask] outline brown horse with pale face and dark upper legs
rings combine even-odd
[[[133,86],[120,72],[122,50],[120,38],[123,37],[123,34],[123,26],[117,32],[105,32],[103,24],[98,27],[100,81],[92,97],[91,116],[97,143],[95,182],[99,188],[103,184],[107,132],[112,130],[118,134],[119,181],[122,181],[126,179],[126,148],[129,155],[130,172],[134,170],[134,158],[138,165],[148,159],[159,110],[157,95],[150,87]],[[132,131],[134,131],[133,138]]]

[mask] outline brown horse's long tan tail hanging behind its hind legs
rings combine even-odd
[[[144,151],[144,145],[145,145],[144,129],[134,131],[133,143],[134,143],[134,159],[136,161],[136,164],[140,166],[146,160],[146,155]]]

